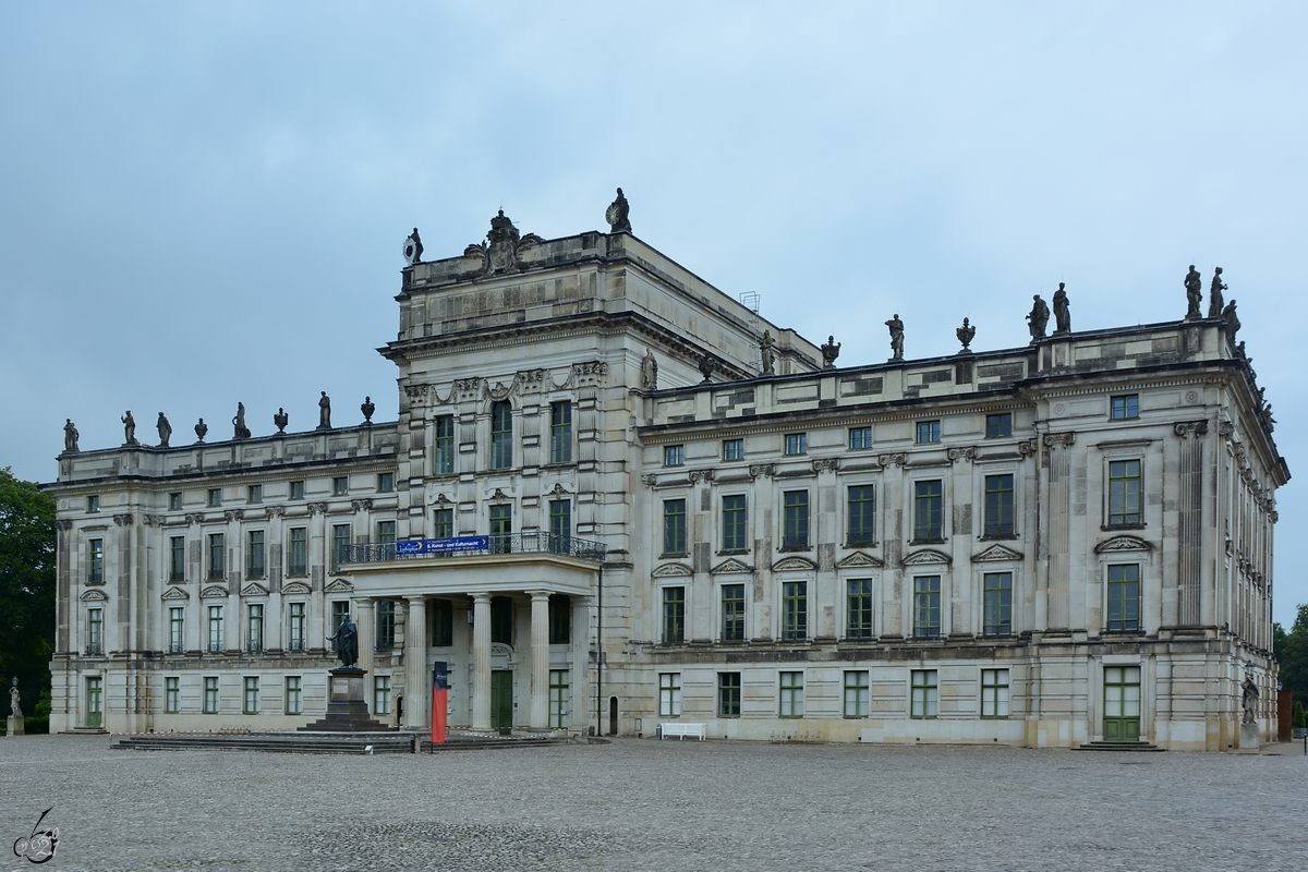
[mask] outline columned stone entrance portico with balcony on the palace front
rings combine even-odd
[[[542,537],[542,540],[545,539],[549,537]],[[577,541],[569,540],[566,544],[572,545]],[[527,545],[531,544],[528,540]],[[542,544],[553,543],[542,541]],[[453,660],[450,664],[451,701],[466,698],[459,696],[460,692],[467,694],[471,689],[466,715],[463,718],[453,716],[451,723],[462,723],[475,732],[502,728],[502,724],[494,722],[504,718],[504,713],[493,711],[493,701],[497,698],[496,690],[498,689],[501,697],[508,693],[509,719],[514,727],[549,729],[553,726],[568,726],[568,723],[551,723],[551,597],[566,597],[566,604],[570,605],[568,625],[587,626],[589,621],[577,611],[589,612],[603,546],[582,543],[587,546],[583,550],[586,556],[577,556],[576,553],[559,553],[561,549],[527,550],[522,546],[521,540],[514,545],[513,550],[496,548],[472,554],[413,557],[396,556],[394,545],[388,549],[379,545],[356,545],[351,548],[351,554],[341,561],[340,573],[347,575],[354,586],[353,596],[361,621],[373,620],[378,600],[392,600],[405,607],[405,620],[403,621],[405,729],[420,732],[429,727],[432,660],[446,658]],[[576,552],[576,549],[573,550]],[[590,557],[591,554],[594,558]],[[451,638],[433,639],[429,637],[429,611],[434,600],[445,601],[443,607],[447,609],[445,620],[450,621]],[[508,645],[513,634],[513,604],[518,603],[518,608],[521,608],[523,600],[530,603],[530,643],[514,648]],[[436,605],[442,605],[442,603],[436,603]],[[471,624],[471,639],[462,631],[453,631],[462,622],[462,620],[453,621],[453,614],[459,612],[466,614],[467,622]],[[501,634],[500,638],[496,635],[497,631]],[[436,633],[439,634],[441,630],[437,629]],[[504,638],[505,633],[509,634],[508,638]],[[360,641],[364,642],[362,624],[360,634]],[[371,654],[373,637],[374,630],[369,625],[366,630],[369,655]],[[585,639],[577,637],[578,634],[569,634],[566,639],[556,639],[553,656],[556,659],[565,656],[559,650],[564,642],[568,646],[568,652],[566,665],[560,662],[553,668],[579,669],[583,665],[585,660],[579,659],[578,654],[585,648],[579,645]],[[513,667],[521,663],[519,655],[514,651],[523,650],[528,652],[528,688],[518,684],[526,676],[511,672]],[[511,658],[505,658],[504,651],[514,654]],[[500,654],[497,655],[497,652]],[[508,673],[505,673],[505,667],[509,669]],[[496,675],[497,671],[502,675]],[[462,689],[458,686],[459,684],[463,685]],[[519,709],[511,702],[514,685],[518,686],[519,693],[527,690],[526,706],[521,709],[526,715],[525,719],[515,714],[515,710]],[[577,693],[581,693],[586,682],[573,680],[572,685]],[[455,705],[458,711],[459,703]],[[504,702],[501,702],[501,709],[504,707]],[[581,705],[569,706],[569,709],[577,713],[585,710]],[[578,726],[581,726],[579,722]]]

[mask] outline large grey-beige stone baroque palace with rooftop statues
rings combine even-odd
[[[1275,733],[1271,439],[1233,306],[837,366],[630,233],[405,243],[399,420],[80,450],[52,729],[293,729],[358,628],[426,729],[1078,746]],[[1061,294],[1062,292],[1059,292]],[[1180,294],[1177,294],[1180,295]],[[878,328],[879,329],[879,328]]]

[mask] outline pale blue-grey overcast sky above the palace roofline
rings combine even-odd
[[[1025,344],[1236,298],[1308,476],[1308,5],[0,3],[0,465],[50,481],[132,409],[225,438],[322,390],[394,420],[400,243],[502,208],[636,234],[842,365]],[[1299,357],[1300,363],[1295,363]],[[146,441],[150,441],[146,438]],[[1275,616],[1308,601],[1278,495]]]

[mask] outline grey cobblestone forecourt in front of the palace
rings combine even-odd
[[[1304,869],[1308,757],[617,740],[337,757],[0,739],[0,869]],[[47,807],[59,852],[13,856]]]

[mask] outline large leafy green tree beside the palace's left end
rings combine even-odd
[[[24,714],[50,692],[55,646],[55,501],[0,469],[0,679],[18,677]],[[8,699],[5,701],[8,715]]]

